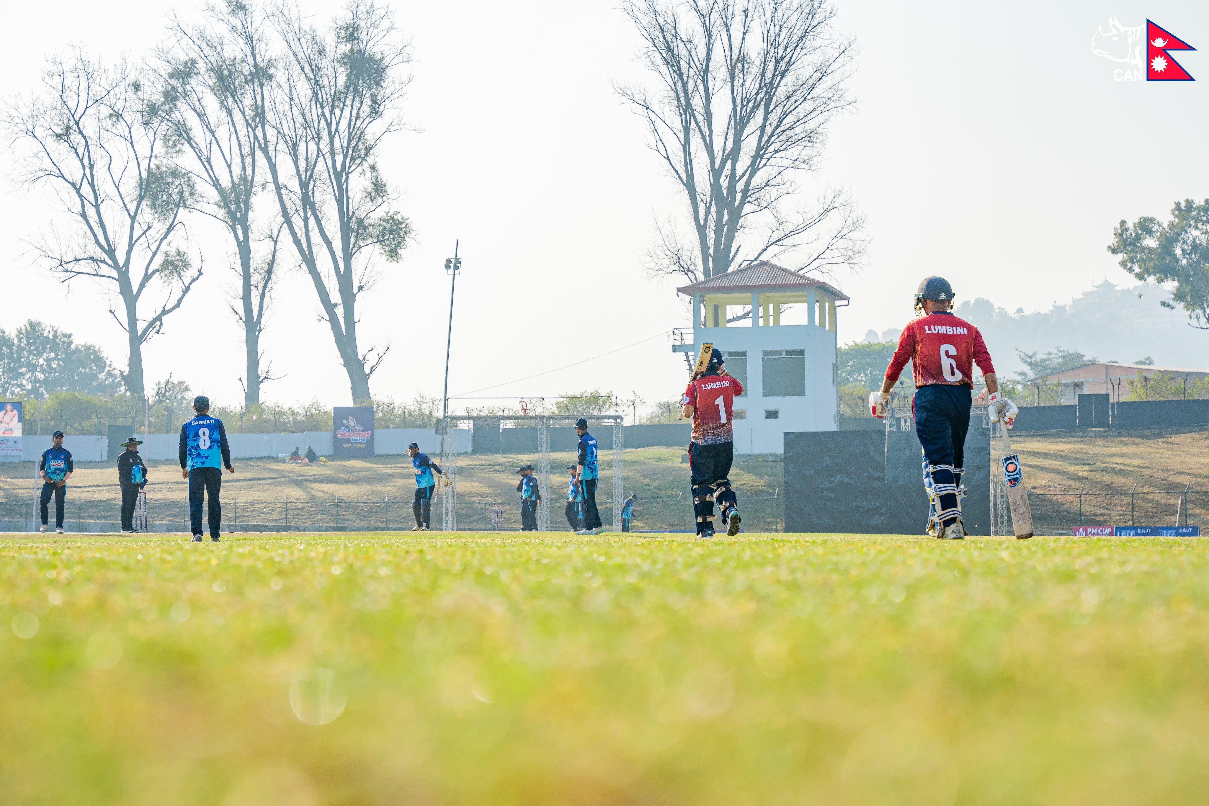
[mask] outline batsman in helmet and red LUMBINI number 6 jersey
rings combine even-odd
[[[912,363],[915,396],[915,434],[924,446],[926,459],[924,483],[932,503],[929,534],[945,540],[966,537],[961,523],[959,488],[965,472],[964,446],[970,430],[970,406],[973,389],[973,367],[977,364],[990,394],[990,419],[1002,417],[1011,423],[1018,410],[999,394],[999,381],[990,353],[978,329],[955,317],[953,288],[942,277],[929,277],[915,292],[916,319],[903,329],[898,348],[890,359],[890,367],[881,389],[869,394],[874,417],[885,417],[885,405],[898,375]]]

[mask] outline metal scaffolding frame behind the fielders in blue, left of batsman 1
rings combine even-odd
[[[476,425],[503,425],[513,428],[537,428],[537,480],[542,488],[542,503],[537,509],[537,528],[550,530],[550,429],[573,427],[583,417],[592,425],[613,427],[613,530],[621,530],[621,501],[625,498],[625,418],[621,414],[449,414],[440,422],[445,450],[441,469],[450,479],[441,486],[441,530],[457,532],[457,433],[458,429]]]

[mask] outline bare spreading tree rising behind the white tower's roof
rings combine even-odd
[[[844,190],[791,209],[817,168],[827,123],[851,108],[856,54],[826,0],[627,0],[655,89],[619,86],[649,146],[684,190],[693,237],[656,222],[655,273],[689,282],[747,260],[793,255],[799,272],[856,265],[864,220]]]

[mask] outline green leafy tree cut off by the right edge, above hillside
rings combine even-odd
[[[1112,231],[1109,251],[1121,255],[1121,268],[1139,280],[1169,284],[1164,308],[1181,306],[1191,325],[1209,330],[1209,198],[1186,198],[1172,208],[1167,224],[1143,216],[1124,219]]]

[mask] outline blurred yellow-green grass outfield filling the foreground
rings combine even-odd
[[[1199,802],[1207,614],[1196,539],[7,539],[0,791]]]

